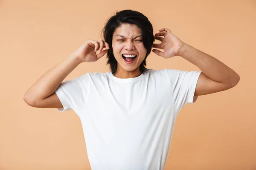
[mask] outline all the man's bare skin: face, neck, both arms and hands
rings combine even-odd
[[[202,71],[196,85],[194,99],[200,95],[227,90],[239,82],[239,75],[218,59],[181,41],[168,28],[162,28],[159,31],[155,34],[155,40],[160,40],[161,43],[152,45],[152,48],[156,48],[153,49],[155,54],[166,59],[174,56],[183,57]],[[117,36],[118,34],[119,36]],[[141,37],[137,37],[140,35],[140,28],[130,24],[122,24],[115,30],[112,47],[118,62],[116,77],[133,78],[140,76],[139,66],[146,54],[143,42],[139,41]],[[82,62],[99,60],[109,49],[109,44],[103,40],[87,40],[70,57],[41,76],[26,92],[24,101],[28,105],[38,108],[62,107],[54,92],[64,78]],[[134,63],[126,64],[122,58],[123,53],[135,53],[138,57]]]

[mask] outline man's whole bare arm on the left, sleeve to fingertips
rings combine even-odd
[[[103,48],[107,49],[103,50]],[[80,63],[95,62],[103,57],[108,49],[108,43],[103,40],[87,40],[70,57],[67,57],[41,76],[26,92],[23,97],[24,101],[35,108],[62,108],[61,101],[55,93],[61,82]],[[96,54],[98,50],[99,53]]]

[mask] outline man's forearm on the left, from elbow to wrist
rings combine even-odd
[[[70,57],[67,57],[42,75],[26,92],[24,100],[33,102],[52,95],[65,77],[80,63],[81,61],[71,54]]]

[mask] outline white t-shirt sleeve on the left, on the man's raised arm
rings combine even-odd
[[[88,76],[84,74],[81,77],[61,82],[55,91],[63,106],[63,108],[57,108],[58,111],[77,111],[84,105],[89,91]]]

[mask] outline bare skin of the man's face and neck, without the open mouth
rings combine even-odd
[[[143,45],[141,29],[136,25],[122,24],[113,33],[112,48],[118,62],[115,77],[125,79],[140,76],[139,66],[147,53]],[[136,54],[137,58],[133,63],[127,64],[122,54]]]

